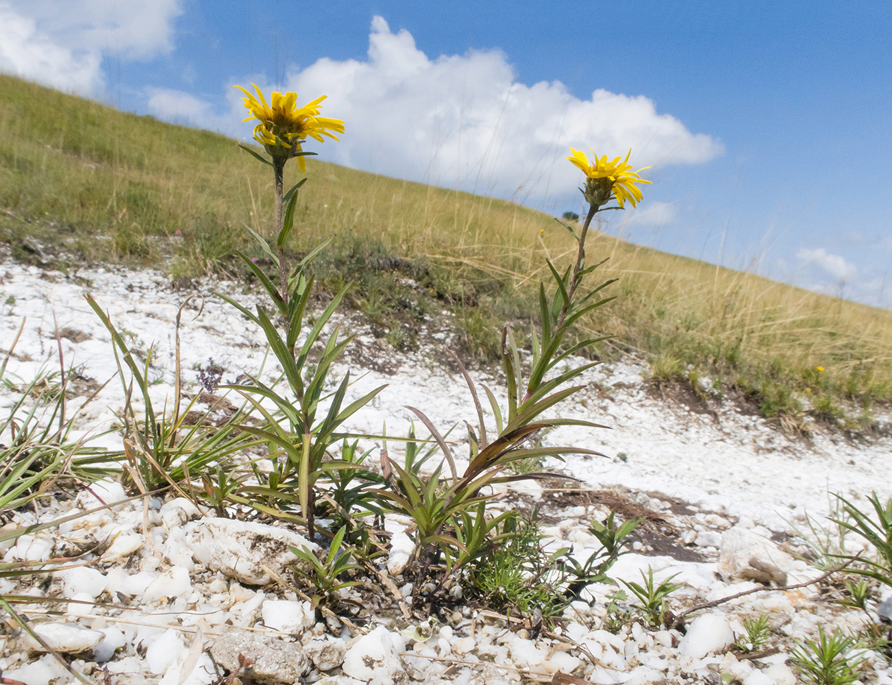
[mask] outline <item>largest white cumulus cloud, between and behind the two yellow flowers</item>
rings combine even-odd
[[[571,146],[611,156],[631,147],[636,168],[723,153],[643,95],[599,89],[582,100],[559,81],[527,86],[497,50],[431,59],[381,17],[372,21],[368,60],[320,59],[290,72],[285,89],[306,100],[328,95],[323,113],[346,122],[326,159],[521,202],[576,196],[579,172],[563,160]]]

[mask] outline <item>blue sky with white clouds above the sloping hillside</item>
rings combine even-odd
[[[567,147],[651,166],[606,230],[892,308],[892,3],[0,0],[0,69],[250,136],[329,95],[323,159],[581,211]]]

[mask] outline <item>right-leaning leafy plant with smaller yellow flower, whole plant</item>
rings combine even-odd
[[[431,566],[442,555],[450,563],[450,570],[461,560],[474,556],[467,542],[476,541],[480,531],[485,530],[478,519],[485,516],[486,503],[491,499],[491,495],[485,494],[486,486],[544,476],[503,475],[506,466],[521,460],[560,457],[568,453],[598,454],[581,448],[542,446],[536,444],[536,437],[542,431],[562,425],[605,427],[582,419],[543,415],[582,390],[584,385],[571,383],[598,362],[560,371],[556,370],[558,364],[607,339],[607,336],[594,337],[567,346],[564,344],[567,334],[580,318],[613,299],[601,295],[613,280],[596,285],[587,292],[583,287],[586,277],[603,264],[603,261],[594,264],[586,262],[585,244],[591,221],[601,210],[624,209],[625,202],[635,206],[641,199],[637,184],[648,184],[649,181],[631,170],[629,154],[624,160],[617,157],[608,161],[606,156],[595,155],[594,161],[589,161],[578,150],[571,148],[571,153],[567,159],[586,175],[585,184],[580,190],[589,204],[589,211],[578,234],[574,227],[558,219],[577,243],[576,258],[563,272],[551,260],[547,260],[552,288],[549,295],[546,285],[540,284],[540,326],[538,331],[532,331],[532,355],[525,375],[512,329],[505,326],[502,330],[501,366],[508,386],[507,406],[503,408],[491,389],[483,386],[495,424],[488,429],[480,394],[460,359],[456,358],[474,402],[477,419],[476,428],[465,422],[469,444],[467,468],[458,473],[457,459],[450,443],[430,418],[414,407],[408,409],[422,421],[431,434],[431,442],[442,452],[440,466],[433,475],[425,477],[417,469],[401,466],[386,454],[383,455],[389,487],[379,489],[378,494],[392,510],[409,516],[416,525],[419,565],[415,588],[424,585]],[[610,206],[613,201],[616,204]],[[475,547],[479,549],[478,541]],[[419,599],[418,593],[415,599]]]

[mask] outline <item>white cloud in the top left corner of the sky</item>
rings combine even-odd
[[[0,70],[95,95],[103,56],[150,59],[173,49],[181,0],[13,0],[0,2]]]

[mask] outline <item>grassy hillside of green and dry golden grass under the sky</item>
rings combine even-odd
[[[290,247],[335,234],[319,277],[351,281],[351,304],[394,345],[446,306],[464,354],[495,359],[500,325],[534,316],[543,257],[571,259],[569,235],[540,212],[322,161],[308,170]],[[244,276],[232,252],[262,256],[241,222],[271,234],[271,180],[224,136],[0,76],[0,240],[17,259]],[[599,273],[619,282],[583,328],[615,334],[602,352],[648,359],[657,381],[735,393],[794,429],[807,416],[869,428],[871,407],[892,400],[892,312],[607,235],[588,253],[609,257]]]

